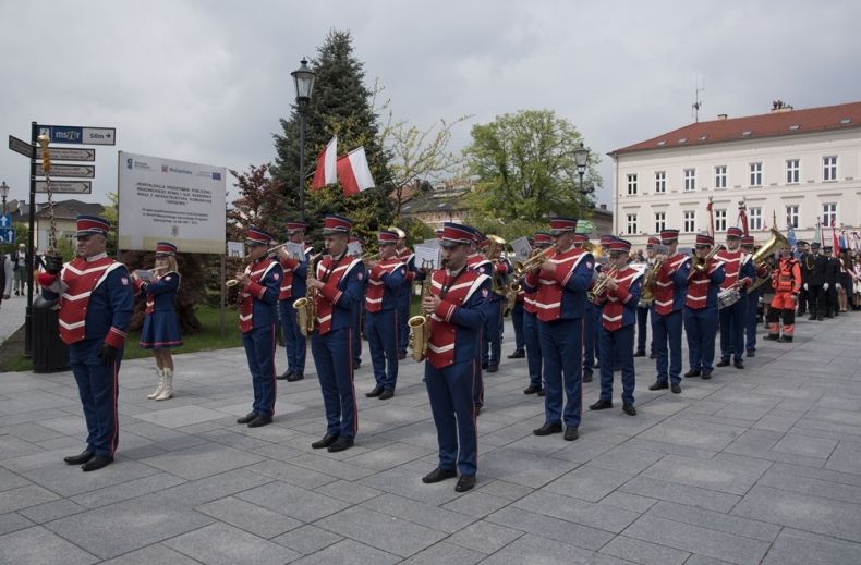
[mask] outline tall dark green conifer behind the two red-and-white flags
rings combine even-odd
[[[316,73],[314,91],[305,115],[305,219],[317,233],[326,212],[352,218],[359,232],[372,232],[391,220],[392,188],[388,155],[380,143],[379,116],[374,110],[375,91],[365,86],[362,62],[355,57],[349,32],[332,30],[326,37],[310,66]],[[275,136],[277,151],[275,176],[283,182],[286,209],[281,222],[299,218],[299,108],[292,107],[288,120],[281,120],[282,133]],[[345,197],[339,185],[310,191],[317,155],[334,135],[340,153],[364,146],[371,173],[377,184],[359,195]]]

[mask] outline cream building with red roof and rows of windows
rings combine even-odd
[[[708,229],[715,238],[748,210],[757,243],[790,221],[811,241],[817,219],[847,232],[861,225],[861,102],[699,122],[609,153],[614,160],[614,233],[635,246],[662,228],[681,231],[680,245]],[[830,228],[827,229],[830,238]]]

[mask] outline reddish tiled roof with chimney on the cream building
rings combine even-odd
[[[861,102],[796,110],[780,100],[772,102],[767,114],[696,122],[610,152],[611,157],[646,150],[699,147],[703,145],[747,142],[765,137],[802,135],[861,126]]]

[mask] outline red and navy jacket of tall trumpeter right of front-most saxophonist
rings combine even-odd
[[[565,253],[557,253],[548,260],[555,266],[550,278],[545,279],[542,271],[536,269],[524,281],[527,291],[536,291],[538,320],[551,322],[582,318],[595,259],[591,253],[572,247]]]

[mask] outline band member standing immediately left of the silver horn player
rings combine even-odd
[[[684,377],[712,378],[717,333],[717,292],[726,279],[724,263],[711,258],[703,262],[715,244],[714,237],[696,234],[696,262],[691,267],[688,296],[684,299],[684,333],[688,336],[688,357],[691,370]],[[701,269],[698,269],[698,262]]]

